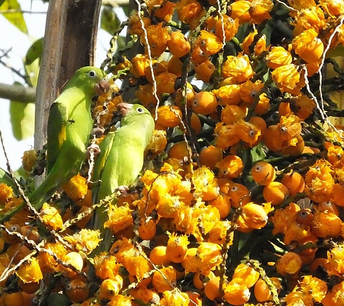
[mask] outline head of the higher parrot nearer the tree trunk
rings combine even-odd
[[[68,85],[86,87],[100,95],[107,93],[110,89],[106,77],[107,74],[103,70],[97,67],[86,66],[76,70],[73,77],[69,80]]]

